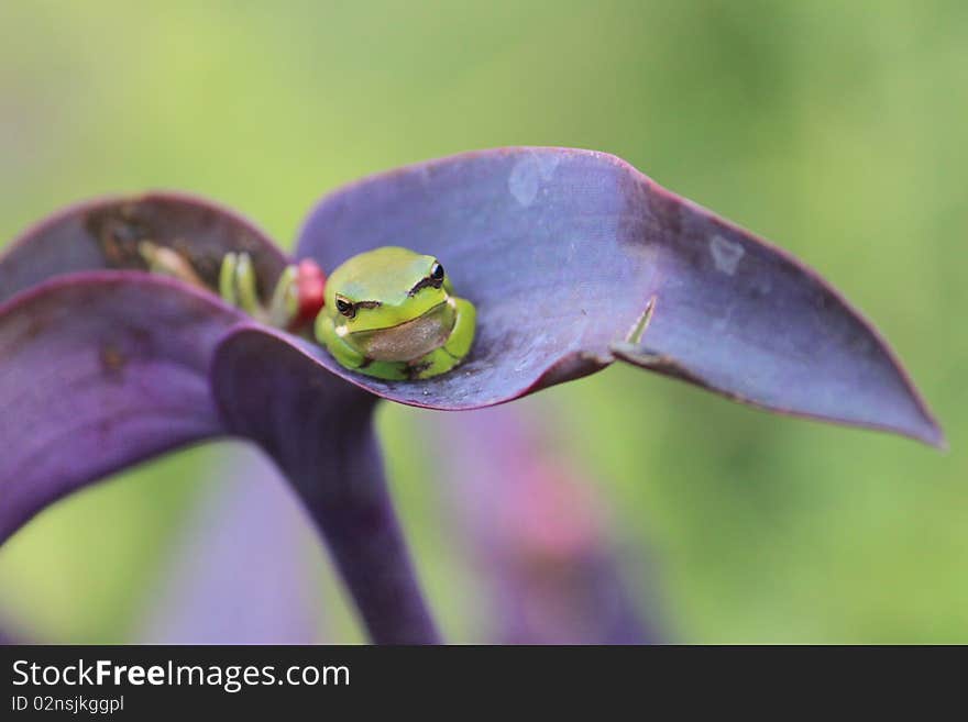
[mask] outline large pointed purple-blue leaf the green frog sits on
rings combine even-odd
[[[297,256],[332,269],[382,245],[441,258],[479,335],[439,378],[349,375],[380,396],[483,407],[623,359],[766,409],[943,443],[884,341],[820,276],[614,156],[502,148],[375,176],[320,202]]]

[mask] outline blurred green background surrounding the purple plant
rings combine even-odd
[[[950,452],[629,368],[525,403],[650,559],[631,578],[671,638],[968,642],[968,3],[11,0],[0,27],[2,240],[78,199],[175,188],[289,244],[362,175],[534,144],[619,155],[792,251],[884,332]],[[480,641],[415,451],[425,416],[382,409],[392,482],[444,632]],[[0,548],[0,618],[138,640],[172,540],[231,482],[226,453],[44,512]],[[316,548],[307,574],[327,638],[360,640]]]

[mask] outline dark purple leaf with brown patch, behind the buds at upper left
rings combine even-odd
[[[0,256],[0,302],[61,274],[144,270],[141,241],[178,252],[212,288],[228,251],[250,253],[264,289],[288,263],[262,231],[209,201],[161,192],[105,198],[72,206],[14,240]]]

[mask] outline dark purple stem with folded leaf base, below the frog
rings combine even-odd
[[[216,351],[228,429],[258,443],[302,498],[373,641],[435,643],[373,434],[376,399],[321,374],[310,346],[293,341],[251,326]]]

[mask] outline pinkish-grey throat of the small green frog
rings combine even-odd
[[[455,318],[454,304],[448,299],[395,326],[356,331],[352,334],[353,345],[373,360],[417,360],[447,343]]]

